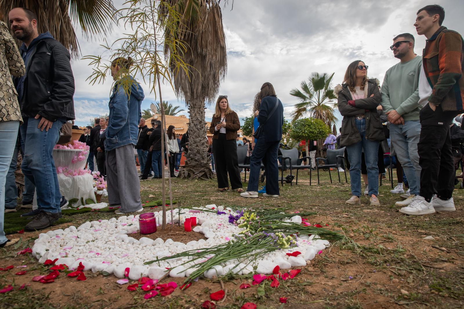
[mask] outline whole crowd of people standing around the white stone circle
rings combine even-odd
[[[1,17],[1,16],[0,16]],[[368,66],[361,60],[348,65],[343,83],[335,87],[338,109],[343,116],[341,134],[329,135],[324,147],[346,147],[351,180],[349,205],[361,204],[361,174],[367,185],[364,193],[372,206],[380,205],[379,169],[383,154],[380,142],[389,136],[390,151],[395,150],[397,168],[403,177],[392,193],[404,193],[400,212],[423,215],[435,211],[455,211],[452,198],[456,168],[462,161],[464,110],[464,46],[458,32],[442,26],[444,9],[438,5],[421,8],[414,23],[417,33],[426,37],[423,55],[414,53],[414,36],[403,33],[390,46],[400,62],[385,74],[384,81],[367,77]],[[0,21],[0,246],[7,243],[3,232],[4,212],[15,211],[18,191],[14,171],[18,154],[25,190],[22,206],[32,208],[34,192],[37,209],[25,230],[40,230],[61,217],[67,201],[60,193],[52,150],[64,123],[75,118],[74,77],[70,53],[49,32],[38,32],[38,19],[26,8],[14,8],[8,14],[9,28],[23,42],[18,48],[8,26]],[[118,57],[111,62],[114,85],[106,118],[86,127],[80,141],[90,147],[88,168],[98,171],[108,184],[109,205],[116,214],[142,212],[140,179],[161,178],[160,120],[152,119],[151,128],[141,117],[144,93],[129,74],[131,58]],[[245,198],[278,197],[278,149],[282,139],[284,108],[271,83],[264,83],[253,105],[251,142],[240,138],[240,122],[227,96],[219,96],[209,127],[213,135],[208,149],[216,172],[219,191],[232,190]],[[456,118],[455,118],[456,117]],[[387,125],[382,125],[386,122]],[[169,173],[179,169],[181,152],[188,152],[188,130],[179,138],[174,126],[167,128],[166,158]],[[309,168],[314,168],[316,142],[309,142]],[[240,179],[237,147],[248,147],[250,178],[246,191]],[[133,162],[140,163],[140,175]],[[303,157],[306,153],[302,154]],[[95,167],[96,162],[97,167]],[[258,191],[260,171],[265,169],[265,188]],[[382,164],[383,168],[383,164]],[[365,176],[364,176],[365,175]],[[400,173],[398,174],[400,177]],[[230,181],[230,185],[229,185]],[[405,187],[406,187],[405,181]]]

